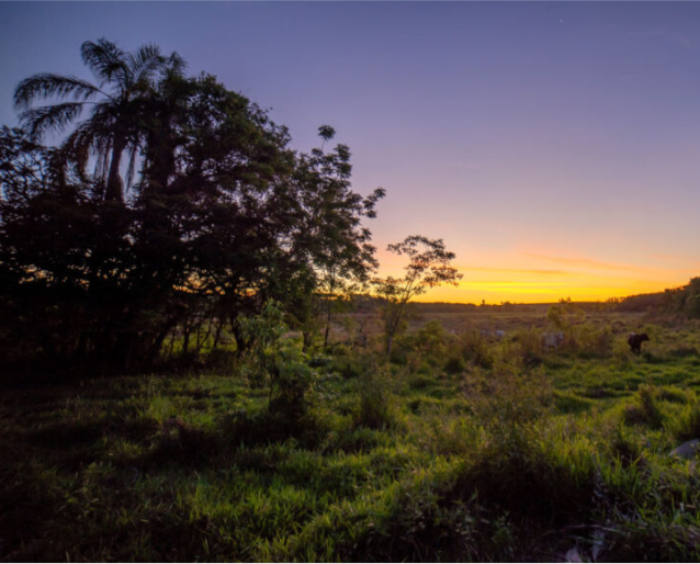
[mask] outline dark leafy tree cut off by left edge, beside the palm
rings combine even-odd
[[[75,351],[95,313],[84,301],[89,273],[99,270],[95,245],[120,242],[95,229],[89,190],[57,165],[57,153],[21,129],[0,129],[0,340],[10,357]],[[111,252],[112,268],[116,258]]]

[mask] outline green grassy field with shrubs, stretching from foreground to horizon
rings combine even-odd
[[[546,308],[417,314],[389,362],[368,330],[307,360],[298,413],[235,362],[7,384],[0,556],[698,561],[700,475],[671,451],[700,438],[700,326],[557,320],[544,351]]]

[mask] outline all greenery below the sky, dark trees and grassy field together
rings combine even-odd
[[[454,255],[376,277],[384,191],[332,127],[295,153],[177,54],[82,56],[97,86],[30,77],[0,134],[3,560],[700,557],[698,279],[410,304]]]

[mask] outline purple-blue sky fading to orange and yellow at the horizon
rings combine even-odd
[[[700,3],[0,2],[0,125],[82,42],[156,43],[318,145],[350,146],[381,273],[408,235],[464,275],[424,301],[606,300],[699,275]]]

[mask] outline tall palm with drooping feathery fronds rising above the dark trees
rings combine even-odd
[[[128,151],[128,188],[142,145],[143,103],[154,93],[157,79],[166,71],[180,74],[184,61],[177,53],[163,57],[156,45],[125,53],[104,38],[83,43],[80,52],[83,63],[98,78],[98,84],[74,76],[42,72],[20,82],[14,91],[14,105],[34,140],[48,133],[63,132],[87,105],[92,106],[90,117],[76,126],[63,147],[82,167],[94,156],[95,180],[104,185],[106,177],[104,199],[124,202],[120,167],[124,151]],[[32,108],[36,99],[69,97],[71,101]]]

